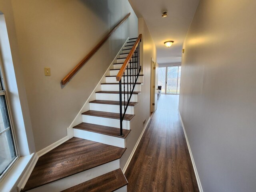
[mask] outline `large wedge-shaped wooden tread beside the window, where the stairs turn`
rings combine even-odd
[[[120,159],[125,150],[73,137],[38,159],[22,192]]]

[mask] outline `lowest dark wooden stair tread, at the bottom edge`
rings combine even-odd
[[[122,170],[119,168],[112,172],[98,176],[62,192],[113,192],[128,184]]]

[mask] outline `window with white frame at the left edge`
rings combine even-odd
[[[6,92],[0,82],[0,178],[17,157],[14,141]]]

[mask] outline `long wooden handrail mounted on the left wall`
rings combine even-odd
[[[98,49],[108,40],[108,38],[115,32],[115,30],[130,16],[128,13],[114,28],[98,43],[85,58],[82,59],[62,80],[61,84],[65,85],[73,76],[78,72],[78,70],[98,51]]]

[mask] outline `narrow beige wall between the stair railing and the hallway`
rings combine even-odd
[[[141,94],[138,95],[138,105],[134,108],[134,118],[131,121],[132,131],[126,138],[126,151],[121,158],[121,168],[126,164],[142,130],[144,128],[143,121],[148,121],[150,117],[150,72],[151,58],[156,60],[156,46],[150,35],[148,27],[143,18],[138,19],[138,31],[142,34],[142,42],[140,43],[140,65],[144,74],[144,84],[141,87]]]

